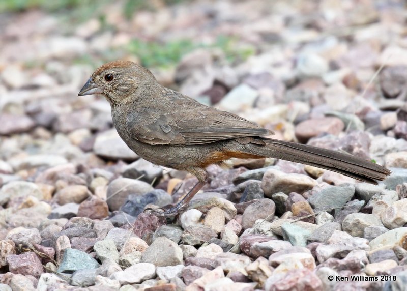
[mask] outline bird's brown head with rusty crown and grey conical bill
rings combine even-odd
[[[97,68],[78,96],[102,94],[113,106],[134,102],[159,86],[148,69],[130,61],[114,61]]]

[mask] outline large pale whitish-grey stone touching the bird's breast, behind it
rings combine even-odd
[[[98,134],[93,151],[98,156],[110,160],[134,161],[138,158],[138,155],[127,147],[115,129]]]

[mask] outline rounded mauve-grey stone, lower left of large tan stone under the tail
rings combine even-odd
[[[272,221],[276,206],[271,199],[258,199],[249,205],[243,213],[242,226],[243,229],[251,228],[254,222],[258,219],[266,219]]]

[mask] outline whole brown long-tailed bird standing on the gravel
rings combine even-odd
[[[110,103],[113,124],[130,149],[154,164],[186,170],[198,178],[176,207],[155,210],[153,215],[166,217],[185,210],[207,182],[206,167],[232,157],[273,157],[374,184],[390,174],[385,167],[352,155],[266,137],[273,132],[163,88],[149,70],[133,62],[100,66],[78,95],[97,93]]]

